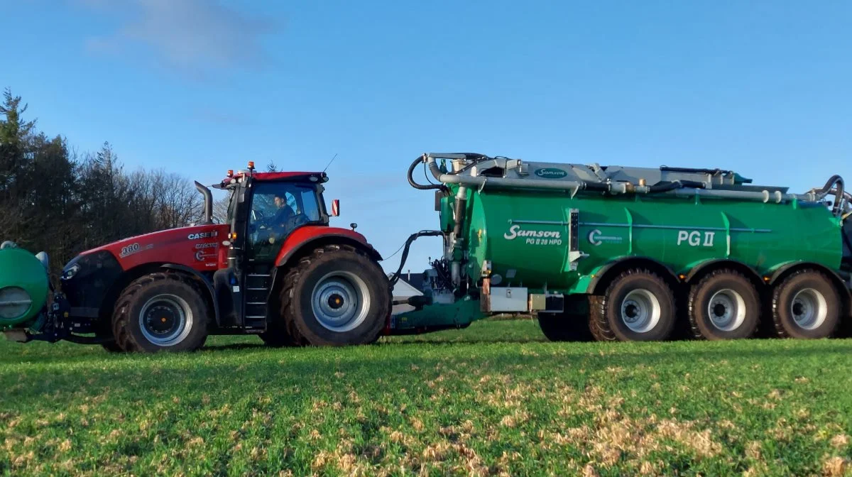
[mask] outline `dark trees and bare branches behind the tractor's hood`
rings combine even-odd
[[[83,250],[199,221],[203,196],[193,181],[164,170],[126,170],[109,142],[72,151],[26,118],[10,89],[0,106],[0,241],[45,251],[55,275]]]

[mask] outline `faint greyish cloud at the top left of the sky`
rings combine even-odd
[[[269,60],[262,35],[272,21],[230,9],[215,0],[77,0],[101,14],[113,14],[118,27],[91,37],[90,50],[124,52],[131,44],[153,49],[164,66],[191,76],[215,70],[259,67]]]

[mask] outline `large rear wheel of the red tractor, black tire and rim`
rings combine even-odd
[[[382,268],[348,245],[325,245],[285,276],[281,313],[294,342],[344,346],[375,342],[390,313]]]

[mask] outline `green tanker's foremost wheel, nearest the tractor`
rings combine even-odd
[[[625,302],[627,298],[629,302]],[[664,341],[675,327],[676,304],[671,287],[648,270],[621,273],[603,296],[594,297],[592,305],[590,320],[599,341]],[[623,305],[625,319],[622,319]],[[630,319],[638,320],[635,324],[638,329],[627,325]],[[646,321],[649,323],[640,326]]]

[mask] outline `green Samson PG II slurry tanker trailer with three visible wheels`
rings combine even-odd
[[[423,164],[438,184],[412,178]],[[429,153],[444,256],[392,332],[535,313],[551,340],[652,341],[683,325],[734,339],[832,336],[849,322],[852,227],[843,179],[807,193],[729,170],[526,162]],[[832,198],[831,204],[826,198]],[[391,280],[395,282],[398,274]]]

